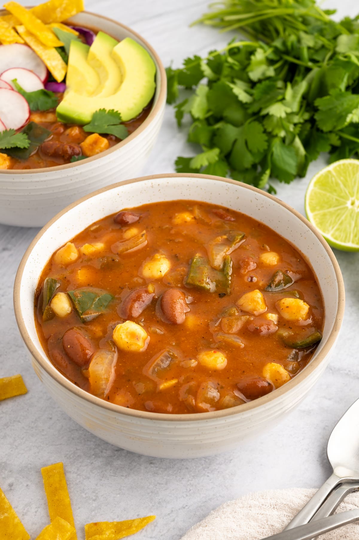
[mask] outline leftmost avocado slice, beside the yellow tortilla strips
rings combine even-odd
[[[67,65],[67,88],[83,96],[91,96],[100,84],[96,71],[87,63],[90,47],[73,39]]]

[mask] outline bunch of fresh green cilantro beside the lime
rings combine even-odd
[[[334,11],[314,0],[224,4],[202,21],[258,40],[232,40],[207,58],[167,68],[167,102],[185,97],[175,117],[179,126],[191,119],[187,140],[198,148],[194,157],[177,158],[176,170],[275,192],[270,178],[303,177],[321,152],[331,161],[356,156],[359,16],[336,23]]]

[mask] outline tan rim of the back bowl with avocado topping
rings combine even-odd
[[[4,10],[4,9],[0,9],[0,16],[5,11],[6,10]],[[166,102],[166,97],[167,97],[167,76],[166,76],[166,71],[165,71],[164,65],[162,64],[158,53],[153,49],[152,45],[150,45],[150,43],[148,43],[147,40],[144,39],[138,32],[135,32],[134,30],[132,30],[132,28],[130,28],[130,26],[126,26],[125,24],[119,23],[118,21],[115,21],[114,19],[111,19],[110,17],[105,17],[104,15],[99,15],[97,13],[93,13],[92,11],[86,11],[86,10],[80,11],[78,14],[76,14],[76,16],[81,15],[81,14],[93,15],[97,19],[103,19],[105,21],[110,21],[111,23],[114,23],[117,26],[120,26],[122,29],[126,30],[127,32],[132,33],[134,35],[134,37],[136,37],[136,39],[139,40],[140,43],[143,43],[146,46],[148,51],[150,51],[152,59],[158,65],[158,72],[159,72],[159,75],[160,75],[160,77],[159,77],[159,79],[160,79],[159,80],[159,95],[158,95],[157,103],[155,103],[154,106],[152,106],[150,114],[148,114],[148,116],[145,118],[143,123],[136,130],[134,130],[133,133],[128,135],[128,137],[126,137],[126,139],[121,140],[120,143],[115,144],[114,146],[112,146],[108,150],[105,150],[104,152],[100,152],[99,154],[96,154],[96,156],[91,156],[89,158],[86,158],[86,163],[82,163],[82,161],[80,161],[80,162],[76,161],[75,163],[65,163],[64,165],[56,165],[55,167],[42,167],[42,168],[33,168],[33,169],[6,169],[6,170],[0,171],[0,177],[2,176],[2,174],[10,174],[10,175],[15,174],[15,176],[19,176],[21,174],[25,174],[25,175],[27,175],[27,174],[42,174],[42,173],[44,174],[44,173],[50,173],[52,171],[53,172],[62,171],[62,170],[67,170],[67,169],[71,169],[71,168],[74,168],[74,167],[80,167],[80,166],[86,165],[87,163],[90,163],[91,161],[94,161],[96,159],[100,159],[100,158],[109,156],[109,154],[111,154],[112,152],[116,152],[116,150],[119,150],[120,148],[123,148],[127,143],[130,143],[135,137],[137,137],[142,131],[144,131],[146,129],[146,127],[151,124],[152,120],[154,120],[154,118],[157,116],[157,114],[161,111],[162,106],[164,106],[164,104]],[[71,17],[68,20],[71,20]]]

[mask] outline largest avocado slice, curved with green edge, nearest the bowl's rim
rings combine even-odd
[[[119,111],[123,121],[127,122],[136,118],[148,105],[155,90],[156,68],[146,49],[126,37],[113,48],[111,56],[123,73],[123,81],[117,91],[112,96],[101,97],[82,96],[71,88],[66,90],[56,109],[61,122],[89,124],[93,113],[99,109]]]

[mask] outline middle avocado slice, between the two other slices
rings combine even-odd
[[[94,96],[112,96],[122,82],[122,73],[119,66],[111,56],[112,50],[118,41],[104,32],[98,32],[92,43],[87,63],[97,72],[100,85],[93,92]]]

